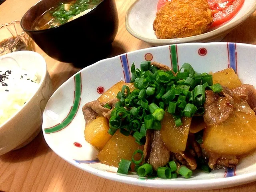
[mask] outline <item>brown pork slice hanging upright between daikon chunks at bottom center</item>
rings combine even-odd
[[[170,151],[164,146],[160,131],[147,130],[144,145],[145,161],[152,165],[154,170],[165,166],[170,160]]]

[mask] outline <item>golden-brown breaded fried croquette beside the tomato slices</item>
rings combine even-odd
[[[204,33],[212,22],[207,0],[172,0],[156,13],[153,29],[160,39],[182,38]]]

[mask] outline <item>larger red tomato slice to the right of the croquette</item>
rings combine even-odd
[[[212,27],[215,27],[234,17],[244,4],[244,0],[208,0],[208,4],[212,10]]]

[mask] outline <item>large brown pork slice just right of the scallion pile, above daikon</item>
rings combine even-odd
[[[223,87],[223,91],[219,94],[212,90],[206,90],[205,96],[204,122],[210,126],[226,120],[233,111],[234,99],[232,98],[232,92]]]

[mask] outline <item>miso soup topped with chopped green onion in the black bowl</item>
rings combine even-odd
[[[60,3],[52,7],[37,18],[32,25],[34,30],[43,30],[62,25],[74,20],[92,10],[102,0],[72,0],[66,3]]]

